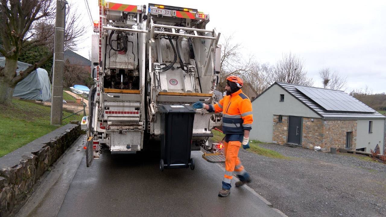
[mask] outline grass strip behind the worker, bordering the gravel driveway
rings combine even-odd
[[[221,132],[216,131],[216,130],[213,130],[212,133],[213,133],[213,138],[212,138],[213,142],[220,142],[220,141],[222,141],[222,138],[225,136],[224,134],[222,134]],[[251,140],[249,142],[249,145],[251,146],[251,148],[247,149],[247,150],[251,151],[255,154],[260,154],[260,155],[267,156],[270,158],[289,159],[288,157],[283,156],[276,151],[272,151],[270,149],[260,147],[259,144],[262,144],[262,143],[264,143],[264,142],[260,142],[257,140]]]

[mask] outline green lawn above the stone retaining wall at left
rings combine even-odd
[[[12,103],[13,107],[0,110],[0,157],[58,128],[50,125],[51,108],[20,100]],[[68,115],[64,112],[63,117]],[[63,125],[80,119],[71,116],[63,120]]]

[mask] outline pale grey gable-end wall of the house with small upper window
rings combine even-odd
[[[284,102],[279,102],[284,94]],[[252,102],[253,124],[249,138],[272,142],[273,115],[321,118],[279,85],[274,85]]]

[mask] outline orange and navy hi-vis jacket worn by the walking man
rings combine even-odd
[[[217,104],[209,105],[208,112],[222,112],[224,134],[244,134],[244,130],[252,129],[252,103],[241,89],[226,95]]]

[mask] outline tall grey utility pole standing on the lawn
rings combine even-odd
[[[61,125],[63,118],[63,67],[64,67],[64,26],[66,21],[66,0],[56,0],[56,23],[54,43],[54,74],[52,76],[51,124]]]

